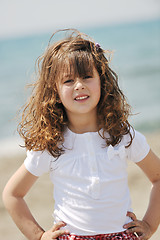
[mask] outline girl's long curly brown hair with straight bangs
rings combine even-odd
[[[37,81],[33,84],[31,97],[18,125],[25,147],[34,151],[46,149],[53,157],[63,153],[60,146],[64,141],[63,132],[68,119],[59,101],[56,83],[64,71],[84,77],[88,72],[93,72],[93,67],[98,71],[101,81],[101,97],[97,108],[99,129],[103,129],[101,137],[107,146],[115,146],[123,135],[129,134],[130,146],[133,140],[131,125],[127,120],[130,106],[118,86],[118,76],[109,67],[106,52],[87,35],[75,29],[61,31],[69,32],[69,36],[54,44],[49,42],[44,55],[37,61]],[[109,138],[105,137],[104,132],[109,133]]]

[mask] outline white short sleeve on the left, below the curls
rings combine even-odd
[[[51,155],[47,151],[27,151],[24,160],[26,169],[33,175],[39,177],[50,170]]]

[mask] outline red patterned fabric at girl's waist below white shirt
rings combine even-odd
[[[134,233],[109,233],[94,236],[76,236],[76,235],[62,235],[59,240],[138,240],[139,238]]]

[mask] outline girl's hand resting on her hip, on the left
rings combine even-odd
[[[69,234],[69,231],[67,230],[60,230],[61,227],[66,226],[64,222],[58,222],[51,229],[44,232],[40,238],[40,240],[51,240],[51,239],[57,239],[59,236],[64,234]]]

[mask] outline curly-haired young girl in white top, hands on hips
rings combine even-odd
[[[3,192],[16,225],[31,240],[149,239],[160,223],[160,160],[129,124],[130,107],[104,50],[74,30],[51,44],[38,65],[19,125],[27,157]],[[132,213],[127,160],[153,184],[142,220]],[[24,201],[45,172],[55,199],[47,231]]]

